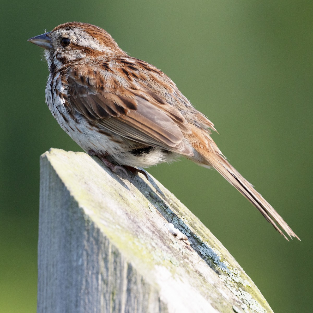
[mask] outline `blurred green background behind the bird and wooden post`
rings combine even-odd
[[[39,156],[81,150],[45,105],[43,49],[26,40],[74,20],[105,28],[162,69],[213,121],[224,155],[301,242],[287,242],[215,171],[183,160],[149,172],[210,228],[275,312],[312,311],[312,1],[11,1],[0,16],[1,312],[36,310]]]

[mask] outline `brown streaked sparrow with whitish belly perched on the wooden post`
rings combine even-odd
[[[298,238],[228,163],[209,136],[213,123],[161,70],[128,56],[109,33],[87,23],[64,23],[28,41],[45,49],[46,103],[52,115],[89,154],[113,171],[134,174],[145,173],[135,167],[179,156],[214,167],[277,231],[285,236],[276,223]]]

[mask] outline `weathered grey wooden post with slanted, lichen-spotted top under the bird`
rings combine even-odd
[[[40,160],[37,312],[272,310],[208,228],[156,179],[116,175],[97,157],[51,149]]]

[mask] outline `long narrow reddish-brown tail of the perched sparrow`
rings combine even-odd
[[[288,238],[285,236],[285,233],[283,233],[282,230],[284,230],[291,239],[292,237],[295,237],[300,240],[300,238],[293,232],[293,230],[275,211],[275,209],[261,196],[261,194],[259,194],[259,192],[257,192],[254,187],[229,164],[212,138],[208,135],[205,137],[206,144],[204,146],[206,147],[204,147],[201,143],[199,144],[199,141],[196,145],[192,144],[198,157],[195,155],[191,159],[195,162],[198,162],[200,165],[214,167],[223,177],[228,180],[228,182],[230,182],[237,190],[239,190],[239,192],[242,193],[244,197],[246,197],[262,213],[266,220],[271,223],[274,228],[287,240]],[[195,143],[195,141],[193,141],[193,143]],[[204,160],[199,156],[199,154],[204,158]],[[198,161],[195,159],[198,159]],[[200,161],[200,159],[202,160]]]

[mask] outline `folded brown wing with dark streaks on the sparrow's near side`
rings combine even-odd
[[[73,67],[69,71],[68,92],[74,109],[130,140],[192,156],[191,148],[183,142],[182,131],[189,129],[181,113],[177,110],[177,118],[171,118],[172,106],[168,114],[169,104],[161,105],[151,90],[144,93],[145,88],[131,89],[121,84],[116,89],[117,80],[121,79],[96,66]]]

